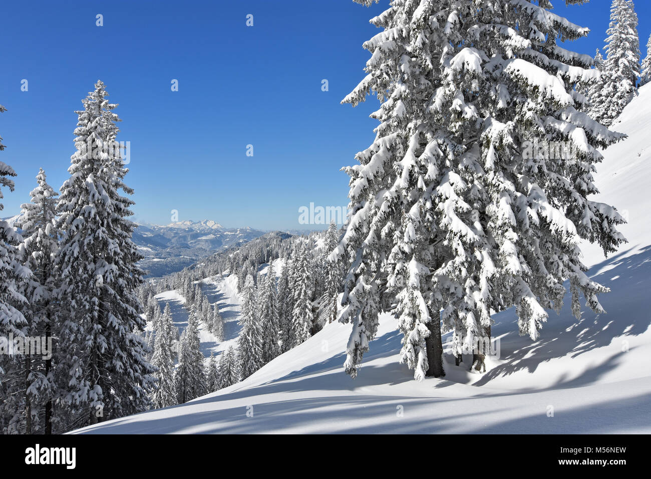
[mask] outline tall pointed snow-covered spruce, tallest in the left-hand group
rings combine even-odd
[[[61,187],[58,265],[64,321],[61,349],[67,390],[61,401],[74,426],[143,411],[153,379],[137,287],[143,272],[132,241],[135,224],[128,169],[117,143],[117,122],[102,81],[76,111],[77,151]]]

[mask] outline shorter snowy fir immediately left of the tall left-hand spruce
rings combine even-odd
[[[56,227],[57,193],[49,186],[45,171],[36,176],[37,186],[31,191],[31,203],[21,205],[16,226],[23,235],[21,256],[23,265],[34,276],[27,282],[25,296],[29,304],[23,308],[27,324],[26,336],[46,338],[46,345],[58,336],[55,323],[57,298],[53,295],[57,283],[54,264],[59,249],[60,232]],[[25,433],[42,430],[51,433],[52,402],[57,386],[53,358],[25,354]]]

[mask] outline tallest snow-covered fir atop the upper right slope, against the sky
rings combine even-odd
[[[609,126],[630,103],[640,76],[640,38],[633,1],[613,0],[607,35],[602,87],[593,99],[590,116]]]

